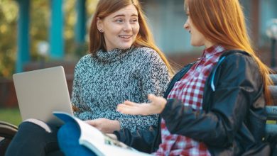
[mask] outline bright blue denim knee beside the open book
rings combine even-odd
[[[79,144],[79,138],[80,129],[75,123],[68,122],[58,130],[58,143],[60,145],[60,150],[62,150],[66,156],[95,155],[92,150]]]

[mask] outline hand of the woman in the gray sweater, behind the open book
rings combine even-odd
[[[102,133],[113,133],[114,130],[120,130],[119,121],[112,121],[107,118],[97,118],[95,120],[85,122],[102,131]]]

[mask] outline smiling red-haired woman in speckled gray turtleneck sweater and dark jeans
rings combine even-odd
[[[157,115],[116,112],[117,104],[126,99],[144,103],[148,94],[162,96],[173,74],[153,41],[139,1],[99,1],[89,31],[89,53],[75,67],[75,116],[104,133],[155,125]],[[57,130],[42,121],[24,121],[6,155],[63,155]]]

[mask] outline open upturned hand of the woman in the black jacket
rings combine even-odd
[[[163,108],[165,108],[166,99],[163,97],[149,94],[148,99],[151,101],[149,104],[137,104],[131,101],[124,101],[123,104],[117,106],[116,110],[120,113],[148,116],[153,113],[161,113]]]

